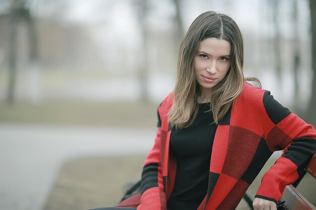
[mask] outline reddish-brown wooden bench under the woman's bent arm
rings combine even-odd
[[[316,179],[316,154],[312,156],[305,170]],[[311,204],[293,185],[286,186],[280,201],[285,201],[282,206],[284,207],[283,209],[286,210],[316,210],[316,207]],[[282,207],[278,209],[282,209]]]

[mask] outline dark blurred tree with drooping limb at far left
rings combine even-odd
[[[29,61],[32,65],[37,60],[37,37],[34,27],[34,19],[25,0],[13,0],[10,9],[9,23],[9,84],[7,100],[10,104],[15,100],[16,74],[17,74],[17,33],[19,23],[24,21],[28,29],[29,38]]]

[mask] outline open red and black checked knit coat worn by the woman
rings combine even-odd
[[[144,163],[141,191],[121,206],[138,206],[137,210],[167,208],[177,166],[169,153],[172,127],[166,114],[172,103],[170,94],[158,108],[159,129]],[[218,124],[207,194],[198,210],[235,209],[269,157],[278,150],[284,152],[264,175],[256,194],[275,202],[316,152],[316,131],[279,104],[269,91],[245,83],[241,96]]]

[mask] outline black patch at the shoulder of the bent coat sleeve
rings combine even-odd
[[[270,95],[270,91],[265,92],[263,102],[266,112],[274,124],[278,124],[291,114],[288,108],[283,107],[272,95]]]

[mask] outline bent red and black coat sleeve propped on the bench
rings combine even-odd
[[[261,121],[267,145],[272,152],[284,152],[262,177],[255,197],[277,202],[286,185],[298,179],[316,153],[316,131],[278,103],[269,91],[264,93],[262,101]]]

